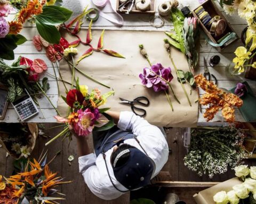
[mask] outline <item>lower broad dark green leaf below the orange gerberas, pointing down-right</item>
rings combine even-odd
[[[60,32],[55,28],[54,25],[43,24],[40,20],[36,19],[36,28],[39,34],[46,41],[52,44],[60,43]]]

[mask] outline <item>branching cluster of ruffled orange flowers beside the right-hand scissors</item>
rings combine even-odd
[[[204,117],[206,121],[211,121],[214,115],[221,109],[222,115],[227,122],[235,121],[235,108],[243,105],[243,100],[238,96],[227,93],[219,89],[212,81],[207,81],[202,74],[195,76],[195,82],[198,87],[201,87],[206,93],[199,98],[199,103],[202,105],[210,105],[206,108]]]

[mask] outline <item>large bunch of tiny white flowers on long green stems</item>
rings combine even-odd
[[[210,178],[214,174],[227,172],[228,166],[242,163],[247,154],[243,148],[243,130],[228,126],[225,128],[198,128],[191,131],[191,141],[185,166],[199,176]]]

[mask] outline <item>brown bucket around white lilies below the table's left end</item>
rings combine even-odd
[[[29,153],[31,154],[31,152],[33,151],[34,147],[35,147],[35,143],[36,143],[36,138],[38,135],[38,127],[36,123],[27,123],[25,124],[25,126],[27,125],[27,128],[29,130],[28,134],[27,134],[27,148],[29,149]],[[7,143],[5,143],[5,139],[10,137],[10,133],[8,132],[0,132],[0,145],[2,145],[2,147],[6,150],[6,152],[11,155],[13,158],[15,159],[19,159],[21,158],[21,154],[15,154],[15,151],[12,150],[10,144],[8,145]]]

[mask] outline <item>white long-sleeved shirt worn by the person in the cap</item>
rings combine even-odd
[[[132,130],[133,134],[137,135],[140,145],[155,163],[156,168],[153,173],[153,177],[155,177],[167,162],[169,155],[167,141],[161,130],[149,124],[142,117],[127,111],[120,113],[117,126],[121,130]],[[127,139],[124,143],[134,146],[143,152],[135,139]],[[116,180],[113,168],[110,164],[110,156],[113,152],[113,148],[106,152],[109,174],[119,190],[127,191],[128,189]],[[111,184],[102,154],[98,157],[96,157],[95,154],[85,155],[79,157],[78,162],[79,172],[82,173],[85,183],[95,196],[105,200],[112,200],[124,194],[116,190]]]

